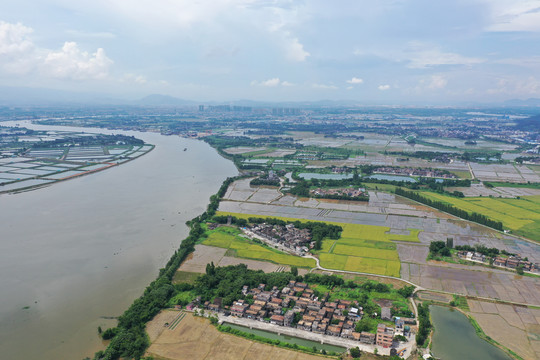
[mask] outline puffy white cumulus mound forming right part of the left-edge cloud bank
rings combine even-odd
[[[75,42],[66,42],[62,50],[50,51],[44,59],[45,74],[60,79],[103,79],[113,63],[102,48],[93,54],[81,51]]]

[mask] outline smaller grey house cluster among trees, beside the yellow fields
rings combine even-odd
[[[307,253],[314,245],[309,229],[298,229],[293,224],[281,226],[262,223],[248,227],[247,230],[263,240],[277,243],[298,254]]]

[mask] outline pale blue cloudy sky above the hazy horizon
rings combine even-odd
[[[0,85],[197,101],[540,98],[540,0],[2,1]]]

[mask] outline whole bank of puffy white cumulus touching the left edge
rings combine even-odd
[[[59,79],[102,79],[113,63],[101,48],[89,54],[77,43],[65,42],[54,51],[37,47],[30,34],[33,30],[20,23],[0,22],[0,66],[5,73],[37,73]]]

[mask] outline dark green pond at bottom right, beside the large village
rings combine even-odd
[[[433,355],[443,360],[511,360],[502,350],[480,339],[459,311],[443,306],[429,307],[433,320]]]

